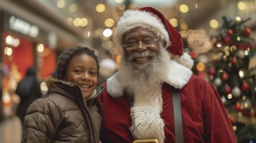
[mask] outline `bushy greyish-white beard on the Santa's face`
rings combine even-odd
[[[144,65],[131,62],[131,58],[123,57],[120,62],[120,77],[122,78],[125,90],[131,94],[135,92],[147,92],[155,86],[161,85],[167,79],[168,65],[170,65],[170,55],[164,49],[159,48],[159,53],[145,51],[140,55],[152,55],[150,63]],[[142,57],[142,56],[141,56]]]

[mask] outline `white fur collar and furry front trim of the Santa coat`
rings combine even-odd
[[[192,72],[175,60],[171,60],[169,63],[170,65],[167,66],[168,75],[163,83],[182,89],[189,81]],[[165,141],[165,123],[160,115],[163,110],[161,86],[156,86],[152,91],[147,91],[146,94],[138,92],[134,95],[130,131],[136,139],[157,138],[160,143]],[[106,90],[113,98],[123,96],[124,88],[125,82],[122,82],[122,77],[118,72],[107,80]]]

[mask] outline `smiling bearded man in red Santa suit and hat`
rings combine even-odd
[[[116,44],[123,49],[120,68],[98,98],[102,142],[237,142],[217,90],[193,75],[180,33],[161,12],[125,11]]]

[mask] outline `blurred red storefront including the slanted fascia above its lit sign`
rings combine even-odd
[[[29,66],[39,68],[43,81],[54,72],[62,51],[85,42],[77,32],[52,23],[20,1],[1,1],[0,39],[0,120],[14,114],[13,101],[18,99],[13,92]]]

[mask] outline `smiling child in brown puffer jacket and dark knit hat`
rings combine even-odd
[[[99,60],[92,49],[76,46],[57,60],[50,94],[27,109],[22,142],[99,141],[102,103],[97,96]]]

